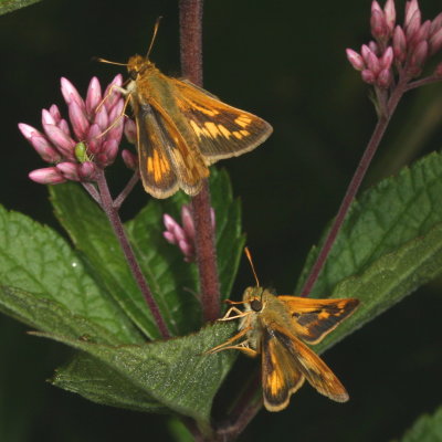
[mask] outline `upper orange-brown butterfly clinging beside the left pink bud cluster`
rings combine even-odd
[[[152,42],[157,29],[158,21]],[[141,181],[155,198],[170,197],[179,189],[194,196],[210,165],[253,150],[273,129],[191,82],[162,74],[148,60],[152,42],[146,57],[129,59],[130,81],[125,90],[137,128]]]

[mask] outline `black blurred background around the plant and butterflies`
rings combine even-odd
[[[440,1],[422,3],[424,18],[440,12]],[[398,2],[400,20],[402,6]],[[206,6],[204,87],[274,127],[264,146],[221,164],[242,200],[260,280],[280,293],[293,293],[306,253],[336,213],[376,123],[368,87],[345,57],[346,48],[368,41],[369,10],[368,0],[211,0]],[[81,92],[92,75],[112,80],[119,67],[91,57],[125,62],[144,54],[158,15],[164,20],[151,59],[165,73],[179,75],[176,1],[50,0],[0,17],[0,201],[8,209],[59,229],[45,187],[27,178],[43,162],[17,124],[40,127],[41,108],[63,103],[61,76]],[[433,85],[403,99],[365,187],[440,148],[438,97],[442,88]],[[116,188],[126,178],[124,168],[118,173]],[[124,215],[147,200],[138,189]],[[243,263],[236,295],[250,284]],[[440,288],[440,282],[421,288],[326,354],[350,392],[348,403],[336,404],[305,387],[285,411],[261,412],[242,440],[388,441],[422,412],[432,412],[442,402]],[[45,383],[70,350],[25,330],[0,317],[2,442],[170,438],[166,419],[99,407]]]

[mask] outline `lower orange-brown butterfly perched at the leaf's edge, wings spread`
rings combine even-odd
[[[343,383],[308,345],[319,343],[349,317],[359,305],[358,299],[276,296],[257,284],[244,291],[242,301],[228,303],[233,306],[219,320],[241,319],[239,333],[208,354],[228,349],[251,357],[261,354],[263,399],[269,411],[286,408],[305,379],[337,402],[348,400]],[[242,304],[244,311],[235,304]]]

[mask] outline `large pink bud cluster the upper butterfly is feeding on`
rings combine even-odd
[[[124,99],[115,87],[110,87],[122,84],[123,77],[117,75],[102,94],[98,80],[93,77],[83,99],[75,86],[62,78],[61,90],[72,131],[56,105],[42,110],[43,133],[28,124],[19,124],[19,129],[41,158],[54,165],[31,171],[29,177],[33,181],[44,185],[93,181],[97,168],[114,162],[123,135]],[[85,150],[83,154],[80,147]]]

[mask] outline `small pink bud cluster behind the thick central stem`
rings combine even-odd
[[[214,210],[210,209],[212,227],[214,229]],[[194,245],[194,224],[191,209],[189,206],[183,204],[181,208],[181,222],[182,227],[173,220],[172,217],[165,213],[162,217],[166,231],[162,235],[170,244],[177,244],[185,255],[186,262],[194,261],[196,245]]]

